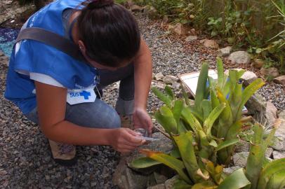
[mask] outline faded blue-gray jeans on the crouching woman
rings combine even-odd
[[[131,115],[133,113],[134,99],[134,69],[133,64],[116,71],[98,70],[100,84],[98,90],[102,90],[107,85],[120,80],[119,97],[116,109],[106,104],[101,99],[96,98],[95,102],[74,104],[66,106],[65,120],[83,126],[94,128],[117,128],[121,127],[121,115]],[[37,108],[25,115],[32,122],[39,124]]]

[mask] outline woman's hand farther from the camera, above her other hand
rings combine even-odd
[[[133,112],[133,124],[135,129],[144,128],[152,134],[152,119],[145,109],[135,109]]]

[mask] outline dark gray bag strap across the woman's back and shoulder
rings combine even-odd
[[[65,54],[77,59],[81,62],[87,62],[84,56],[81,54],[78,45],[69,41],[67,38],[55,34],[52,31],[47,31],[39,27],[29,27],[22,29],[18,37],[16,38],[15,43],[18,43],[21,40],[31,39],[34,41],[39,41],[45,43],[46,45],[51,45],[54,48],[65,52]]]

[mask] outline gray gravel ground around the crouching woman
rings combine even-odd
[[[137,15],[142,33],[152,50],[154,73],[177,75],[198,71],[200,62],[208,60],[215,65],[215,53],[193,43],[185,50],[184,41],[168,36],[143,15]],[[1,62],[0,62],[1,63]],[[0,64],[0,188],[117,188],[112,174],[119,154],[108,146],[81,146],[77,148],[79,162],[73,167],[56,165],[50,157],[46,138],[38,125],[30,123],[11,102],[4,99],[7,66]],[[105,90],[103,99],[114,105],[117,83]],[[285,109],[284,87],[267,84],[260,90],[279,110]],[[148,109],[159,106],[150,94]]]

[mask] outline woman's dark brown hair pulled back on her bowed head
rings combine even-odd
[[[140,48],[140,30],[133,15],[112,0],[88,3],[78,18],[79,38],[86,55],[105,66],[119,67]]]

